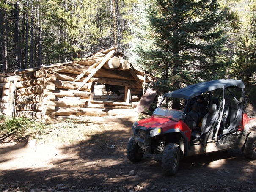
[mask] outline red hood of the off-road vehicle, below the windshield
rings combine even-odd
[[[173,124],[177,123],[177,122],[172,121],[172,120],[170,120],[168,118],[151,117],[151,118],[146,118],[146,119],[138,121],[138,126],[144,126],[147,129],[149,129],[150,127],[154,127],[154,128],[155,127],[162,127],[162,125],[164,123],[167,123],[167,122],[170,122],[170,123],[173,123]]]

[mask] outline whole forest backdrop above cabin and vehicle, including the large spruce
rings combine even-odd
[[[162,93],[232,78],[256,102],[254,0],[0,0],[0,73],[113,46]]]

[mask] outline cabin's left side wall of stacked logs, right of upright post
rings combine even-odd
[[[52,70],[38,70],[17,77],[16,116],[36,118],[44,120],[47,118],[47,110],[55,109],[51,101],[55,101],[54,95],[46,95],[45,91],[55,90],[52,82],[56,77],[50,74]],[[51,117],[54,118],[54,115]]]

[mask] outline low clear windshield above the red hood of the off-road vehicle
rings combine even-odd
[[[154,110],[153,116],[154,117],[165,117],[170,118],[173,121],[179,121],[182,119],[184,112],[181,110],[175,109],[167,109],[165,107],[157,107]]]

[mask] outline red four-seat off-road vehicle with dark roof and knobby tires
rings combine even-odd
[[[166,93],[151,118],[136,121],[127,157],[162,154],[162,171],[175,175],[181,156],[241,148],[256,159],[256,117],[245,113],[240,80],[212,80]]]

